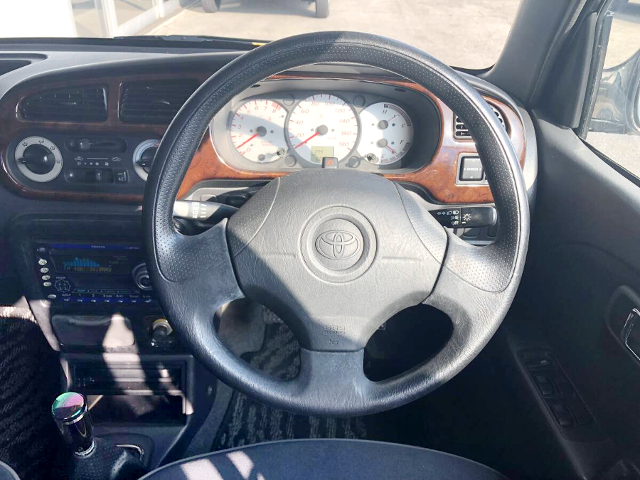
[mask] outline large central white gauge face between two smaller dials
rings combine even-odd
[[[291,147],[312,163],[321,163],[323,157],[343,160],[358,140],[356,112],[328,93],[301,101],[291,112],[288,127]]]

